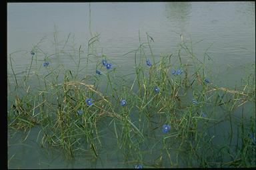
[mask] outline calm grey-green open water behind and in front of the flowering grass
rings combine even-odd
[[[85,50],[91,37],[90,31],[100,33],[98,52],[101,53],[102,50],[117,68],[121,68],[120,75],[134,72],[134,54],[123,54],[137,49],[139,34],[141,39],[146,39],[146,33],[153,37],[151,48],[155,58],[161,53],[176,50],[177,44],[181,42],[181,34],[185,40],[198,42],[193,45],[198,58],[203,58],[205,49],[211,46],[208,53],[214,64],[209,65],[209,70],[214,75],[212,81],[221,86],[233,88],[235,84],[239,84],[244,75],[241,69],[245,64],[255,63],[254,2],[91,3],[91,16],[88,3],[9,3],[7,52],[10,54],[16,50],[24,50],[12,55],[15,73],[21,72],[17,74],[17,78],[21,78],[31,61],[29,52],[32,46],[42,37],[47,38],[42,43],[42,48],[55,51],[50,43],[54,41],[55,25],[59,39],[65,40],[71,33],[71,39],[76,44],[81,44]],[[73,67],[70,58],[59,58],[53,56],[51,64],[57,66],[61,63],[65,68]],[[95,58],[93,62],[96,60]],[[11,75],[8,65],[8,76],[11,84],[14,84]],[[251,107],[253,106],[247,106],[248,110]],[[240,112],[238,110],[236,113]],[[101,126],[106,127],[104,122]],[[225,128],[227,125],[223,122],[219,129]],[[100,149],[99,159],[85,152],[69,161],[62,157],[60,151],[41,149],[36,142],[38,131],[34,128],[29,131],[29,135],[25,133],[25,142],[21,141],[24,135],[21,132],[15,135],[9,133],[9,168],[134,167],[133,163],[125,163],[123,153],[112,145],[115,143],[115,134],[107,128],[103,131],[106,136],[103,145],[106,147]],[[213,141],[220,142],[224,132],[213,130],[212,133],[216,136]],[[154,142],[155,140],[148,141],[152,145]],[[153,153],[145,147],[146,157],[159,155],[157,146]],[[163,162],[163,166],[165,165],[168,165],[168,161]],[[182,167],[182,163],[180,166]]]

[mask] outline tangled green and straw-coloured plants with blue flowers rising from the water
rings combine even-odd
[[[93,41],[95,41],[95,39],[93,39]],[[183,48],[186,47],[185,43],[182,45],[182,49],[185,51],[189,50],[189,48]],[[162,165],[165,165],[166,167],[191,166],[188,162],[193,162],[195,163],[193,166],[198,167],[218,167],[219,165],[254,167],[256,139],[254,135],[255,132],[252,132],[253,130],[249,131],[247,135],[242,135],[242,137],[245,137],[245,140],[243,141],[248,141],[245,143],[245,147],[237,143],[237,148],[241,147],[239,154],[242,153],[243,150],[246,150],[243,152],[243,155],[241,154],[242,156],[237,154],[238,152],[235,153],[235,150],[228,145],[225,147],[227,148],[227,151],[224,151],[225,149],[219,149],[219,146],[212,143],[207,134],[205,135],[205,131],[211,131],[213,122],[216,122],[216,126],[219,128],[217,125],[218,122],[223,122],[227,118],[227,115],[223,116],[223,118],[216,116],[219,114],[219,110],[216,112],[215,106],[209,106],[208,104],[215,103],[216,106],[223,107],[224,109],[227,108],[229,110],[232,109],[233,112],[236,107],[244,107],[242,101],[245,101],[246,103],[251,101],[255,102],[255,97],[251,95],[255,93],[255,86],[248,82],[245,84],[246,90],[245,86],[241,88],[243,91],[240,91],[239,88],[235,91],[227,88],[220,88],[206,78],[206,73],[208,74],[208,71],[205,70],[205,68],[207,67],[201,67],[201,63],[197,62],[197,60],[193,60],[193,58],[191,59],[195,62],[195,64],[193,64],[195,68],[186,67],[185,63],[182,63],[183,61],[179,60],[179,54],[175,55],[177,58],[169,58],[169,56],[165,56],[165,54],[161,54],[160,59],[157,58],[156,61],[152,58],[154,61],[153,66],[148,59],[149,56],[145,55],[147,53],[144,53],[143,46],[140,46],[140,48],[142,51],[141,58],[139,58],[138,62],[135,53],[135,72],[131,72],[131,74],[129,72],[128,76],[120,75],[118,70],[119,67],[117,67],[117,72],[115,72],[115,69],[113,69],[113,72],[108,71],[113,67],[105,57],[99,58],[95,66],[93,63],[89,63],[91,68],[81,68],[83,64],[80,64],[79,68],[78,60],[77,68],[75,70],[66,70],[64,68],[63,72],[61,72],[62,69],[47,69],[47,72],[43,72],[42,77],[38,74],[39,80],[43,81],[43,86],[40,87],[40,94],[38,96],[32,96],[32,93],[28,92],[26,98],[16,98],[15,101],[11,103],[12,106],[8,110],[8,117],[10,117],[9,120],[11,120],[9,121],[9,127],[15,129],[28,129],[37,126],[37,122],[39,122],[38,124],[45,128],[45,131],[43,131],[45,135],[42,137],[41,141],[43,145],[49,143],[49,145],[60,146],[61,149],[64,149],[72,156],[75,153],[79,153],[79,149],[85,150],[87,149],[87,146],[89,148],[91,145],[91,149],[93,150],[92,153],[97,157],[97,146],[104,145],[101,143],[101,137],[103,139],[107,139],[108,137],[106,135],[107,137],[104,138],[105,131],[103,128],[105,127],[101,124],[101,121],[106,121],[109,125],[107,128],[109,128],[114,136],[116,136],[117,143],[113,141],[111,144],[113,144],[114,147],[118,145],[118,147],[123,149],[125,153],[134,153],[131,154],[131,159],[137,161],[133,161],[130,166],[135,166],[135,169],[141,169],[143,168],[143,165],[153,167],[153,165],[150,165],[150,163],[153,162],[153,159],[151,159],[152,157],[143,160],[145,157],[143,154],[147,153],[141,151],[141,145],[147,145],[149,146],[149,149],[153,149],[157,146],[155,144],[157,144],[158,141],[161,141],[161,139],[159,140],[159,135],[155,137],[155,133],[158,132],[161,133],[160,138],[163,139],[163,143],[158,145],[157,153],[160,151],[161,155],[166,156],[160,156],[159,159],[157,158],[157,163],[154,164],[157,168],[160,168],[159,166]],[[40,58],[41,52],[37,53],[36,51],[37,50],[33,52],[31,50],[31,55],[37,55],[39,56],[38,58]],[[82,50],[79,50],[79,52],[81,51]],[[191,51],[186,52],[191,54]],[[43,52],[43,54],[47,54],[47,52]],[[74,53],[74,56],[79,55]],[[154,55],[152,54],[152,56]],[[29,58],[36,61],[38,59],[37,57]],[[147,58],[146,62],[145,58]],[[73,59],[75,60],[75,58]],[[47,60],[47,58],[45,58],[45,60]],[[45,67],[49,66],[49,62],[45,60],[43,63],[40,59],[39,65],[43,63],[43,66]],[[11,61],[12,60],[10,60],[10,64]],[[177,63],[179,61],[180,63]],[[31,60],[31,63],[34,62]],[[172,63],[176,63],[175,66],[173,66]],[[108,69],[106,74],[105,71],[102,70],[103,66]],[[152,67],[148,68],[148,66]],[[175,70],[174,67],[178,67],[179,69]],[[31,68],[37,67],[35,66]],[[58,67],[56,66],[56,68]],[[95,68],[99,70],[95,70]],[[82,78],[79,73],[80,70],[83,69],[85,69],[86,75],[82,74],[82,76],[84,76]],[[88,75],[88,72],[91,70],[95,70],[95,72]],[[185,70],[185,76],[177,76],[181,75],[183,70]],[[197,72],[192,72],[192,70],[196,70]],[[75,76],[73,72],[76,73]],[[16,76],[17,74],[13,72],[13,75]],[[98,75],[104,76],[102,77]],[[131,86],[129,84],[129,81],[131,80],[129,77],[130,75],[134,76],[132,77],[134,78],[134,81]],[[149,75],[149,78],[147,78],[147,75]],[[25,76],[26,77],[23,80],[29,79],[29,72]],[[63,82],[58,79],[58,77],[62,78],[62,76],[64,77]],[[211,77],[211,75],[209,75],[209,77]],[[15,80],[15,78],[13,80]],[[248,80],[255,79],[251,78]],[[203,82],[203,88],[201,82]],[[214,86],[207,86],[210,82]],[[19,81],[15,81],[14,84],[17,84],[17,89],[22,88],[21,90],[23,90],[23,86],[18,85],[24,84],[24,89],[29,91],[29,87],[27,86],[29,83],[19,83]],[[39,86],[41,86],[41,84],[39,84]],[[12,94],[12,90],[9,91],[9,94]],[[193,94],[193,99],[189,98],[191,93]],[[84,97],[83,94],[85,94],[86,97]],[[122,96],[117,99],[116,96],[119,96],[119,94],[122,94]],[[59,108],[57,105],[56,107],[55,105],[51,106],[51,102],[55,102],[55,97],[57,97],[59,102]],[[189,98],[188,102],[186,100],[187,98]],[[42,102],[41,99],[45,102]],[[96,99],[97,103],[95,102],[95,105],[90,107],[94,104],[93,101]],[[126,100],[128,101],[128,105]],[[197,102],[197,100],[199,100],[199,102]],[[61,103],[62,101],[63,103]],[[45,109],[48,108],[45,106],[52,108],[53,112]],[[230,106],[232,106],[232,108]],[[37,110],[40,110],[39,112],[41,113],[49,112],[53,114],[37,114]],[[136,114],[132,114],[134,112]],[[185,114],[183,114],[184,112]],[[223,112],[221,114],[226,113]],[[210,116],[213,119],[209,119]],[[252,122],[255,122],[255,118],[253,117],[252,119]],[[57,122],[55,124],[56,126],[52,126],[51,123],[49,123],[49,120]],[[247,123],[246,118],[243,118],[243,121]],[[151,124],[152,122],[154,124]],[[165,122],[168,122],[168,124],[164,124]],[[233,128],[234,126],[237,126],[236,128],[242,127],[245,129],[255,128],[254,123],[244,124],[244,122],[239,122],[239,124],[242,124],[243,126],[237,126],[233,124],[233,122],[231,123]],[[100,124],[100,126],[98,126],[98,124]],[[201,128],[202,126],[203,128]],[[51,130],[48,134],[47,131],[49,129]],[[53,133],[51,133],[52,129]],[[155,129],[158,129],[158,131],[154,131]],[[173,133],[170,133],[171,129],[173,129]],[[215,134],[215,131],[212,133],[212,135],[215,136],[219,135]],[[218,131],[216,133],[218,133]],[[233,133],[233,138],[235,138],[234,134],[235,133]],[[193,136],[195,136],[196,139],[193,139]],[[241,135],[239,135],[239,137],[241,137]],[[226,143],[224,144],[226,145]],[[197,146],[199,146],[200,149]],[[173,147],[175,147],[174,151]],[[223,145],[220,145],[220,147],[223,147]],[[208,154],[206,149],[213,152]],[[175,155],[176,150],[179,150],[177,155]],[[173,162],[174,159],[170,158],[171,156],[169,152],[173,152],[173,157],[177,157],[177,162]],[[193,156],[195,153],[197,157]],[[215,153],[217,155],[215,155]],[[233,161],[231,159],[224,162],[224,159],[219,159],[219,157],[223,157],[223,155],[226,155],[227,153],[232,154],[232,157],[237,157],[236,160],[241,161]],[[184,159],[184,157],[181,156],[183,154],[189,156],[185,157],[187,160],[184,160],[183,163],[179,164]],[[130,155],[125,157],[125,159],[128,159],[128,157],[130,159]],[[159,164],[159,160],[164,161],[165,163],[161,165]],[[143,163],[143,165],[135,165],[136,162]]]

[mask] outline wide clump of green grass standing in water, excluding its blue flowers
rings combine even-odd
[[[69,44],[70,35],[62,42],[56,36],[53,53],[41,41],[33,46],[23,76],[15,74],[10,54],[9,129],[38,127],[41,146],[60,149],[67,159],[81,153],[98,159],[111,139],[127,167],[255,167],[255,64],[235,89],[217,86],[208,49],[197,58],[192,42],[182,42],[173,54],[156,56],[147,34],[123,55],[134,55],[135,68],[121,75],[111,57],[98,54],[99,35],[89,40],[87,54]],[[164,124],[171,126],[167,133]]]

